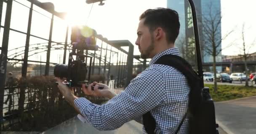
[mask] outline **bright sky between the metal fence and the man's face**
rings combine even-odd
[[[94,3],[91,10],[92,4],[86,4],[85,0],[52,0],[52,2],[55,3],[55,8],[59,12],[70,13],[69,23],[85,24],[87,22],[88,26],[96,29],[98,34],[108,40],[129,40],[133,45],[137,38],[141,13],[149,8],[166,8],[167,6],[166,0],[105,0],[103,6]],[[90,10],[91,14],[88,18]],[[137,46],[134,54],[140,54]]]

